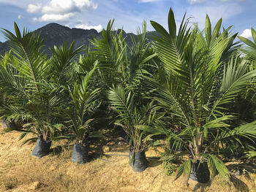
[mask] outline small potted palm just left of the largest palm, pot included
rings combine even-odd
[[[108,99],[118,114],[115,124],[121,126],[129,138],[129,164],[135,172],[143,172],[146,169],[145,149],[149,137],[140,130],[140,126],[151,126],[157,120],[154,104],[148,102],[139,106],[132,91],[121,85],[110,88]]]

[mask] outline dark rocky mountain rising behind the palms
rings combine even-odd
[[[117,33],[120,31],[121,29],[118,29]],[[74,41],[75,47],[80,47],[81,45],[88,46],[90,44],[89,39],[92,39],[92,37],[97,39],[102,37],[101,32],[98,33],[95,29],[69,28],[67,26],[61,26],[58,23],[49,23],[32,32],[36,34],[41,33],[41,37],[44,39],[44,50],[47,54],[50,54],[48,47],[53,47],[54,45],[59,46],[64,42],[70,45]],[[132,45],[130,34],[123,31],[123,35],[126,37],[127,44],[129,46]],[[135,38],[137,38],[136,35]],[[0,42],[0,54],[8,49],[7,42]]]

